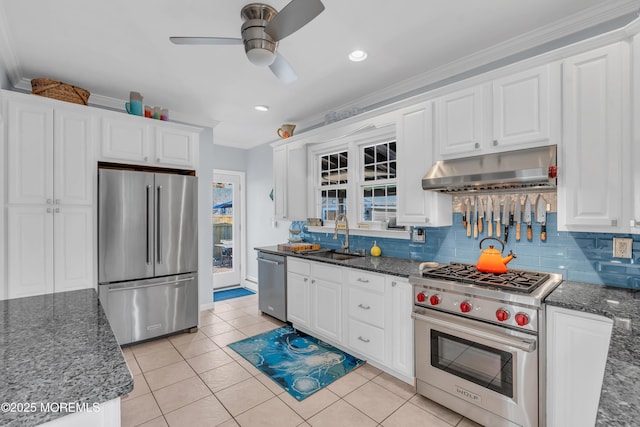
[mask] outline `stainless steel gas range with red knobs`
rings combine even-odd
[[[461,263],[410,277],[418,393],[485,426],[543,425],[543,301],[561,281]]]

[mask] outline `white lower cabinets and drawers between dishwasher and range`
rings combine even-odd
[[[411,385],[412,306],[405,278],[287,258],[287,320]]]

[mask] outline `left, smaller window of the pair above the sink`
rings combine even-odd
[[[320,217],[333,221],[347,212],[349,152],[324,154],[320,160]]]

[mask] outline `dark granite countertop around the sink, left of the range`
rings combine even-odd
[[[421,272],[418,269],[422,261],[415,261],[404,258],[394,258],[387,256],[362,256],[355,257],[347,260],[334,260],[330,258],[324,258],[314,256],[313,253],[297,253],[292,251],[283,251],[278,249],[277,246],[266,246],[255,248],[260,252],[266,252],[276,255],[284,255],[289,257],[306,259],[309,261],[324,262],[327,264],[342,265],[344,267],[357,268],[360,270],[372,271],[374,273],[390,274],[392,276],[409,277],[420,276]]]

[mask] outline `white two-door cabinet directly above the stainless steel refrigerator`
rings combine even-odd
[[[193,169],[199,133],[195,128],[163,121],[105,114],[100,160],[106,162]]]

